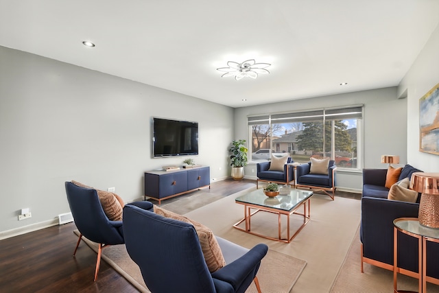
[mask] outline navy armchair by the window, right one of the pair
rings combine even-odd
[[[311,162],[296,167],[296,187],[324,191],[332,200],[335,195],[335,161],[329,161],[328,174],[311,174]],[[329,193],[328,191],[331,191]]]

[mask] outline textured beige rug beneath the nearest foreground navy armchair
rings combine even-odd
[[[75,234],[79,235],[79,231],[75,230]],[[97,252],[98,244],[88,239],[84,239],[84,241]],[[102,250],[102,259],[132,283],[137,290],[140,292],[150,292],[143,281],[139,266],[130,259],[125,245],[104,248]],[[306,264],[306,261],[301,259],[296,259],[274,250],[268,250],[267,255],[261,261],[261,267],[257,274],[261,289],[264,293],[288,292]],[[257,293],[254,282],[246,293]]]

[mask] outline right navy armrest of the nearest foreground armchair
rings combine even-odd
[[[236,290],[249,277],[249,274],[253,274],[252,279],[254,279],[259,270],[261,259],[265,257],[267,251],[267,245],[257,244],[239,259],[213,272],[212,277],[230,283]]]

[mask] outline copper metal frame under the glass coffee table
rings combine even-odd
[[[236,224],[234,224],[233,226],[235,228],[237,228],[238,230],[244,231],[246,233],[252,234],[252,235],[256,235],[259,237],[263,237],[265,239],[270,239],[270,240],[274,240],[274,241],[278,241],[278,242],[285,242],[285,243],[289,243],[292,242],[292,239],[294,239],[294,237],[296,237],[298,235],[298,233],[300,231],[302,231],[302,228],[305,227],[305,225],[309,222],[310,219],[310,202],[309,202],[310,198],[308,198],[307,200],[305,200],[305,202],[303,202],[302,204],[299,204],[298,207],[296,207],[296,209],[293,209],[292,211],[279,211],[277,209],[270,209],[268,207],[261,207],[259,205],[256,204],[249,204],[249,203],[242,203],[242,202],[237,202],[239,204],[244,204],[244,218],[242,220],[240,220],[239,222],[237,222]],[[303,213],[296,213],[296,211],[300,208],[303,207]],[[251,209],[255,209],[256,211],[254,211],[253,213],[251,213]],[[278,238],[274,238],[274,237],[270,237],[267,235],[262,235],[260,233],[255,233],[253,231],[251,231],[251,217],[252,215],[259,213],[259,211],[265,211],[268,213],[276,213],[278,215]],[[297,229],[297,231],[290,237],[290,233],[289,233],[289,217],[292,214],[296,214],[296,215],[302,215],[303,216],[303,224]],[[281,236],[281,215],[286,215],[287,216],[287,237],[283,238]],[[238,226],[239,224],[241,224],[242,222],[246,222],[246,228],[241,228],[240,226]]]

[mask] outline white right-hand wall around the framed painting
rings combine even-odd
[[[398,91],[407,91],[407,160],[424,172],[439,172],[439,156],[419,151],[419,99],[439,83],[439,26],[403,78]]]

